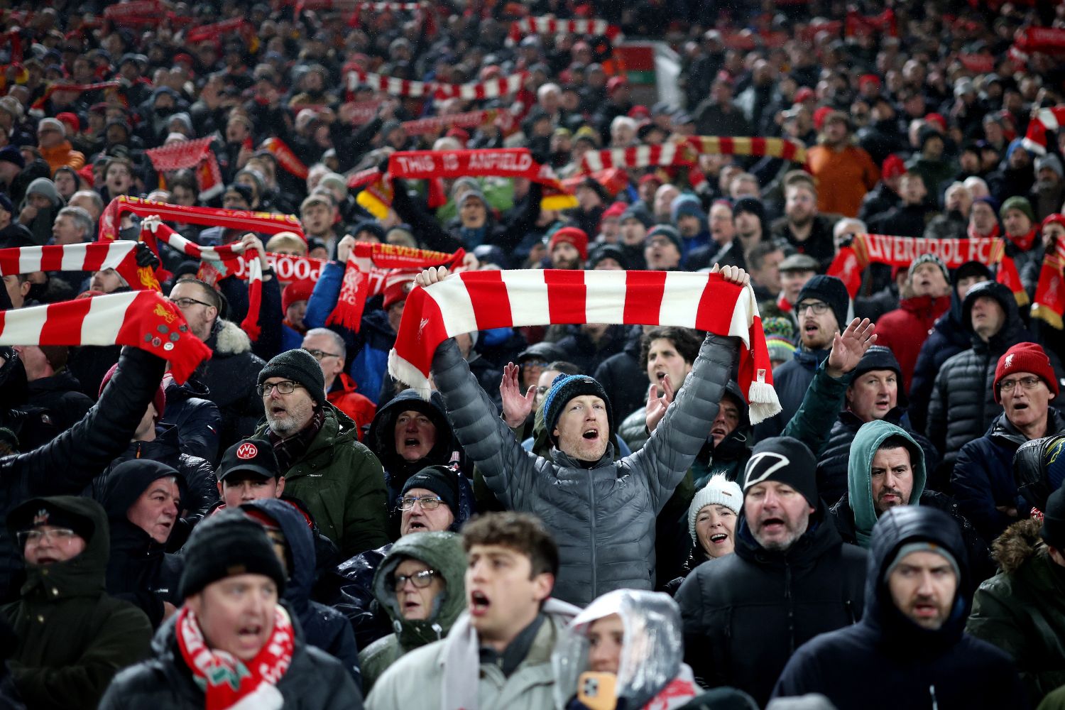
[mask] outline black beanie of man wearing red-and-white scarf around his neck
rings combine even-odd
[[[193,528],[182,558],[182,597],[236,575],[265,575],[277,584],[278,596],[284,590],[284,568],[266,531],[240,510],[220,511]]]

